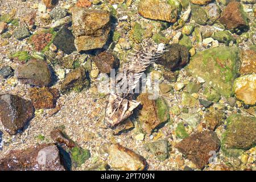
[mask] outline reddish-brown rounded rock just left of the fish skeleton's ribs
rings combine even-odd
[[[104,51],[93,58],[101,73],[110,73],[111,69],[119,67],[119,60],[112,53]]]

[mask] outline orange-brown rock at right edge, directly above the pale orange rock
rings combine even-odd
[[[252,49],[241,51],[241,75],[256,73],[256,51]]]

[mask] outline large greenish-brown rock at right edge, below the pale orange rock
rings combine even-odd
[[[227,119],[227,127],[222,135],[221,148],[225,155],[239,156],[256,142],[256,119],[241,114],[233,114]]]

